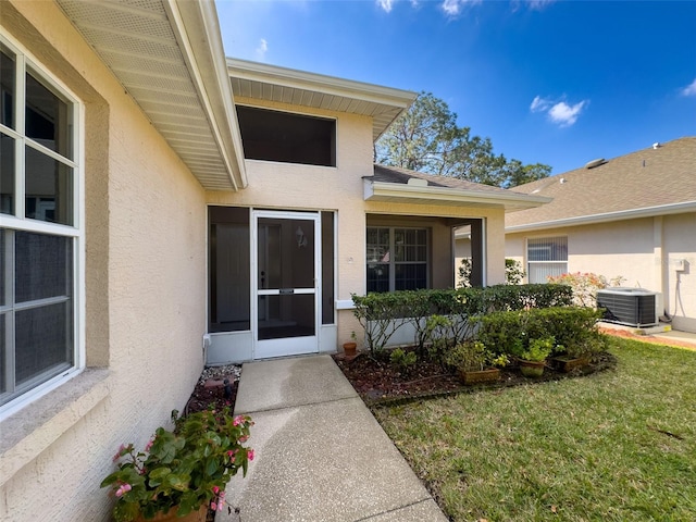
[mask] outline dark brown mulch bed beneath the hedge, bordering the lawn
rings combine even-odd
[[[464,386],[457,375],[443,370],[439,364],[430,362],[419,362],[411,372],[403,373],[388,362],[386,352],[378,357],[360,352],[355,358],[337,355],[334,356],[334,360],[368,406],[385,406],[482,388],[573,378],[613,369],[617,364],[617,359],[611,353],[604,352],[595,357],[589,365],[570,373],[562,373],[547,365],[539,378],[524,377],[518,368],[510,365],[501,370],[500,381],[497,383]]]

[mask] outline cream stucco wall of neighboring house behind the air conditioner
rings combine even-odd
[[[508,234],[506,256],[526,262],[531,237],[568,236],[568,271],[593,272],[622,286],[662,294],[675,330],[696,332],[696,214]],[[678,271],[678,260],[685,260]]]

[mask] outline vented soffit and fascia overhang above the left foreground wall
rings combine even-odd
[[[247,186],[213,2],[57,2],[203,188]]]

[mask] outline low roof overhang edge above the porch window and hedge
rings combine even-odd
[[[372,182],[369,178],[363,179],[363,192],[365,201],[504,208],[506,212],[533,209],[551,201],[551,198],[544,196],[530,196],[511,190],[490,194],[483,190]]]

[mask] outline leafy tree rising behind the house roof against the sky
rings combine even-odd
[[[380,138],[375,161],[504,188],[547,177],[551,172],[548,165],[524,165],[496,154],[489,138],[471,136],[471,128],[457,126],[457,114],[431,92],[421,92]]]

